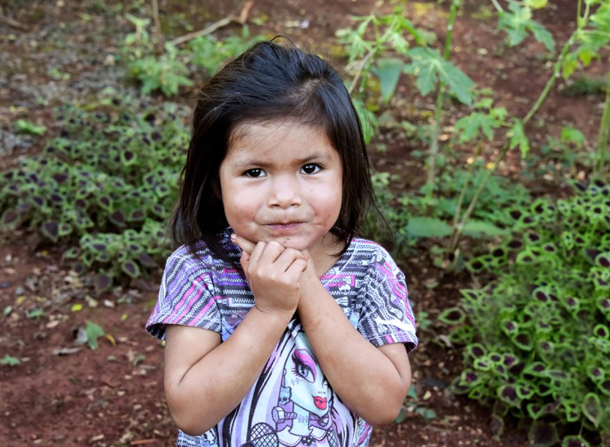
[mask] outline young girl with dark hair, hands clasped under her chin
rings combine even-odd
[[[147,329],[178,446],[367,446],[411,383],[405,277],[354,237],[373,205],[339,76],[259,43],[203,87]]]

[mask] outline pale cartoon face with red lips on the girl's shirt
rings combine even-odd
[[[317,364],[312,348],[301,332],[284,366],[284,387],[290,388],[290,400],[310,413],[322,417],[331,407],[331,389]]]

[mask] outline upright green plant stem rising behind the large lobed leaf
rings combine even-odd
[[[453,0],[451,9],[449,10],[449,20],[447,21],[447,33],[445,35],[445,47],[443,57],[446,61],[451,56],[451,41],[453,40],[453,24],[456,22],[458,15],[458,7],[461,0]],[[444,103],[445,84],[441,80],[438,83],[436,110],[434,114],[434,127],[430,135],[430,154],[428,154],[428,175],[426,177],[426,199],[432,197],[434,184],[436,180],[436,159],[438,156],[438,137],[442,126],[443,119],[443,103]]]

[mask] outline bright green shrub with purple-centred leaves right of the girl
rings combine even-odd
[[[557,440],[555,423],[610,434],[610,186],[576,190],[509,209],[513,237],[468,263],[498,278],[441,316],[466,344],[454,388],[495,403],[498,426],[507,413],[535,421],[539,445]]]

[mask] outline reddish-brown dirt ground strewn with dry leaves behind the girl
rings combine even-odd
[[[0,0],[4,19],[0,21],[0,168],[43,145],[36,138],[12,133],[17,118],[43,123],[49,128],[47,136],[55,135],[54,105],[95,94],[108,85],[124,84],[112,54],[117,52],[117,36],[131,32],[131,27],[124,17],[117,20],[118,15],[112,13],[115,3]],[[164,27],[169,37],[187,31],[180,20],[201,29],[242,7],[237,0],[209,2],[217,3],[213,6],[196,3],[160,1],[161,20],[174,17],[173,27]],[[291,36],[297,43],[328,54],[331,50],[326,44],[335,29],[349,25],[350,14],[365,15],[375,7],[388,10],[386,3],[259,0],[250,17],[266,18],[259,25],[252,24],[252,31]],[[409,17],[442,36],[449,8],[446,3],[407,2]],[[495,21],[481,19],[486,13],[481,5],[487,2],[465,3],[454,31],[454,60],[479,85],[491,87],[500,105],[523,115],[550,73],[542,45],[530,38],[517,48],[507,47]],[[576,2],[552,3],[552,8],[536,18],[560,47],[572,29]],[[485,7],[491,8],[491,3]],[[341,61],[335,62],[340,66]],[[59,67],[59,75],[52,67]],[[603,68],[594,65],[588,73],[599,75]],[[557,136],[568,123],[595,140],[602,98],[567,96],[561,87],[551,93],[541,110],[544,126],[532,124],[532,146],[546,141],[548,134]],[[432,108],[433,101],[418,97],[409,85],[402,84],[399,94],[415,108]],[[182,99],[188,97],[189,92],[184,92]],[[455,113],[459,112],[456,107]],[[449,115],[448,126],[458,117]],[[412,149],[407,142],[395,140],[386,153],[372,154],[379,170],[392,167],[400,173],[409,166],[408,178],[398,184],[407,191],[424,178],[421,166],[413,168]],[[502,171],[516,175],[521,168],[518,156],[509,156]],[[537,179],[535,187],[545,191],[552,187],[551,181]],[[0,237],[0,309],[13,309],[8,316],[0,316],[0,358],[10,354],[21,360],[13,367],[0,365],[0,446],[173,445],[175,426],[162,387],[163,348],[143,329],[156,300],[156,284],[140,281],[132,288],[97,297],[61,264],[58,247],[41,245],[24,232]],[[435,269],[425,247],[401,266],[407,272],[416,314],[427,312],[429,318],[454,305],[458,288],[471,281],[467,274]],[[433,281],[438,285],[428,288],[426,284]],[[86,304],[75,312],[77,302]],[[33,309],[43,309],[43,316],[31,316]],[[107,334],[99,339],[95,351],[75,343],[87,320],[103,325]],[[412,411],[402,423],[375,430],[370,445],[528,445],[523,430],[510,422],[502,439],[493,439],[490,411],[449,393],[447,386],[459,373],[460,351],[449,346],[444,333],[446,328],[431,323],[421,330],[421,346],[411,356],[419,397],[416,406],[433,410],[435,416],[426,420]]]

